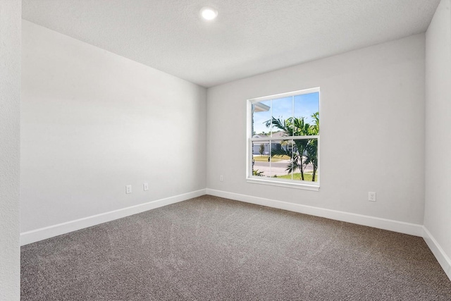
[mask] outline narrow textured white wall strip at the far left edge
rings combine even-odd
[[[0,300],[20,298],[21,1],[0,0]]]

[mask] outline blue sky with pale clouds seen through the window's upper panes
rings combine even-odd
[[[319,92],[271,99],[261,103],[271,107],[271,110],[254,113],[254,132],[268,133],[270,129],[266,128],[264,123],[271,119],[271,113],[274,117],[280,119],[287,119],[292,116],[296,118],[304,117],[307,123],[312,123],[311,115],[319,111]]]

